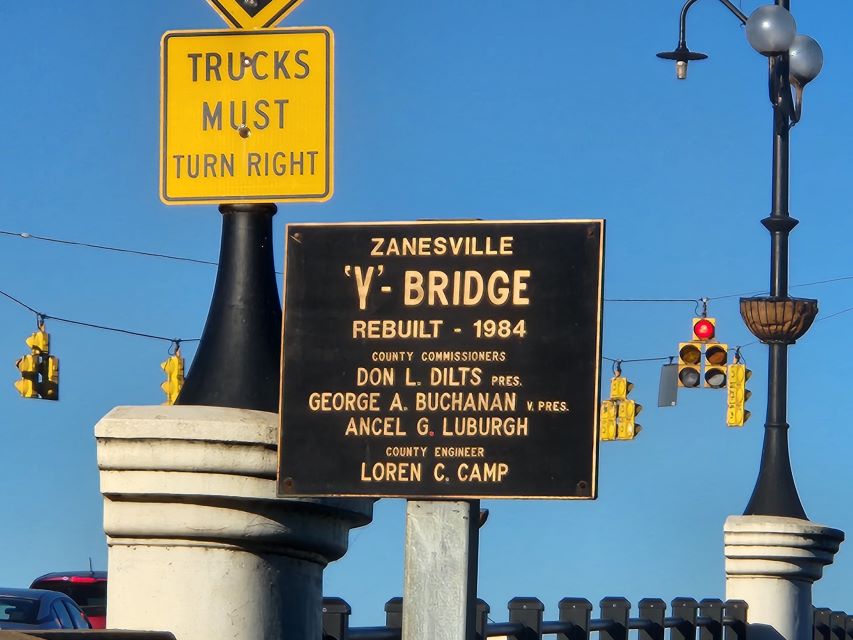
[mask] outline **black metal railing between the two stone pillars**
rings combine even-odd
[[[545,606],[537,598],[513,598],[509,601],[507,622],[488,622],[490,608],[477,601],[476,631],[480,639],[507,636],[513,640],[539,640],[555,636],[557,640],[589,640],[598,633],[598,640],[628,640],[636,630],[637,640],[747,640],[746,603],[740,600],[723,602],[705,599],[676,598],[669,616],[666,603],[657,598],[640,600],[639,617],[631,618],[631,603],[625,598],[604,598],[601,617],[592,617],[592,604],[582,598],[563,598],[559,604],[559,619],[544,620]],[[340,598],[323,599],[324,640],[398,640],[403,624],[403,599],[392,598],[385,604],[385,626],[350,627],[350,606]],[[830,616],[831,618],[831,616]],[[831,622],[831,620],[830,620]],[[698,632],[698,638],[697,638]],[[817,634],[817,631],[815,632]],[[815,640],[851,640],[829,635]]]

